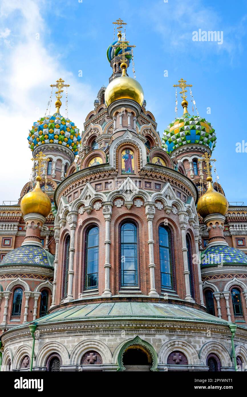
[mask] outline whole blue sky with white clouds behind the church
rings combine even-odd
[[[215,128],[213,157],[226,197],[247,204],[247,153],[236,153],[236,143],[247,142],[246,1],[2,0],[0,17],[0,204],[17,200],[29,180],[28,130],[44,115],[50,84],[59,77],[71,85],[69,118],[83,130],[111,75],[106,49],[119,17],[128,23],[127,40],[136,45],[136,79],[159,133],[174,119],[173,84],[183,77],[193,84],[200,116]],[[223,43],[194,42],[192,32],[199,29],[223,31]]]

